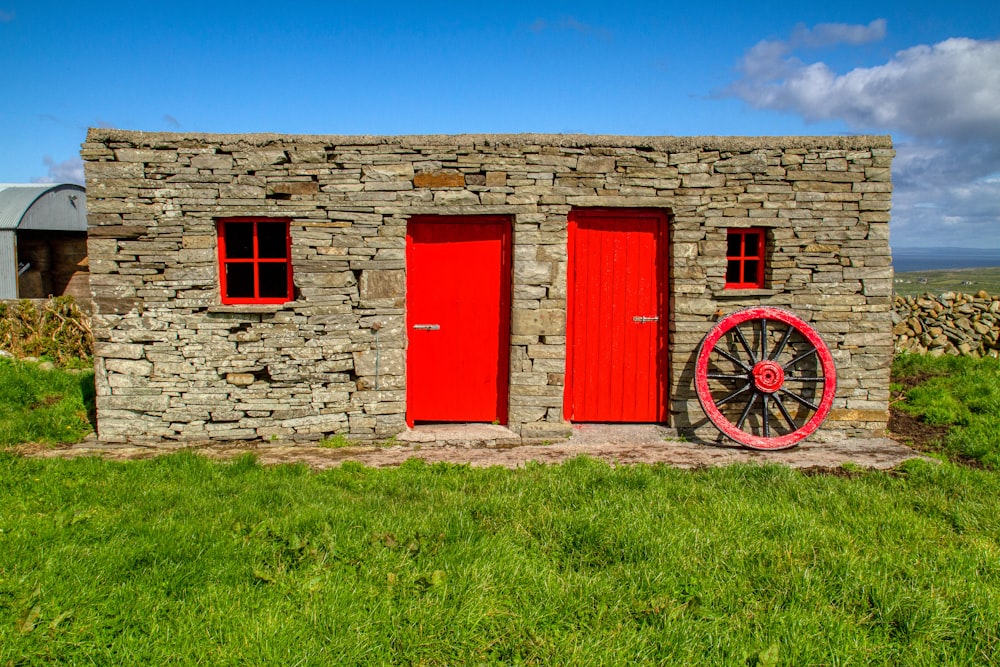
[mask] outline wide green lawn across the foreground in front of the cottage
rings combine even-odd
[[[1000,659],[1000,477],[0,453],[0,664]]]

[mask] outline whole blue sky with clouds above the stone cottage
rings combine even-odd
[[[892,134],[892,242],[1000,248],[995,2],[0,0],[0,182],[102,126]]]

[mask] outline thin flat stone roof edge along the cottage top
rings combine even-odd
[[[248,147],[293,144],[332,146],[455,146],[495,144],[507,146],[563,146],[630,148],[648,147],[669,151],[708,148],[747,151],[762,148],[892,148],[889,135],[835,136],[619,136],[613,134],[415,134],[415,135],[337,135],[337,134],[211,134],[203,132],[142,132],[112,128],[90,128],[90,143],[126,143],[150,148],[178,145],[243,144]]]

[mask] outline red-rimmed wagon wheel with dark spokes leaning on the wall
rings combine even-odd
[[[784,449],[826,419],[837,376],[829,348],[805,321],[778,308],[746,308],[701,342],[695,387],[723,434],[753,449]]]

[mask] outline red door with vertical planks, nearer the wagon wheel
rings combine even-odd
[[[667,420],[667,239],[659,211],[570,212],[568,420]]]

